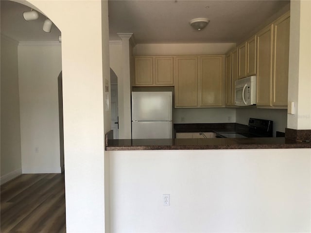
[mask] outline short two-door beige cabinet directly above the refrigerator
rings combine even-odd
[[[173,80],[173,57],[135,57],[134,86],[172,86]]]

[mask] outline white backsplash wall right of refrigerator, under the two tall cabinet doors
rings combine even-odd
[[[174,108],[173,123],[236,122],[235,108]]]

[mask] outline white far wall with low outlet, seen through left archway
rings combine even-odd
[[[58,75],[61,46],[19,45],[22,173],[59,173]]]

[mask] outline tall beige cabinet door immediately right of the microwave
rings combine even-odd
[[[258,33],[257,38],[257,105],[271,106],[273,25]]]

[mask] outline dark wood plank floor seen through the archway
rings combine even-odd
[[[23,174],[1,185],[1,233],[65,233],[64,174]]]

